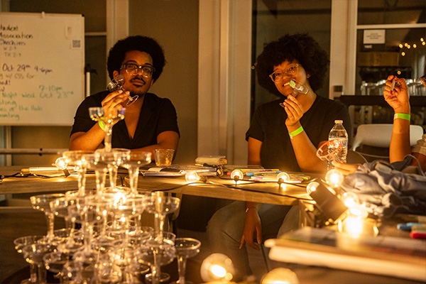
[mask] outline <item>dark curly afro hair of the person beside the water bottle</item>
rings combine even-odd
[[[274,66],[285,60],[297,60],[305,68],[306,73],[310,75],[308,80],[312,90],[316,91],[322,87],[330,60],[314,38],[306,33],[287,34],[265,45],[256,62],[258,83],[272,94],[282,97],[269,75]]]

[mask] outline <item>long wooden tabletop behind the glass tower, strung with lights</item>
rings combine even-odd
[[[16,194],[28,192],[57,192],[77,190],[77,175],[72,174],[55,178],[41,176],[21,176],[20,166],[0,167],[0,175],[5,178],[0,182],[0,194]],[[8,177],[15,175],[14,177]],[[121,173],[121,182],[118,185],[127,185],[126,173]],[[88,174],[86,179],[87,188],[95,188],[96,180],[94,174]],[[224,179],[209,176],[207,182],[196,182],[188,184],[184,176],[180,177],[144,177],[139,176],[138,190],[164,190],[182,195],[196,195],[202,197],[214,197],[228,200],[242,200],[251,202],[262,202],[270,204],[297,204],[297,200],[310,199],[306,194],[305,186],[281,185],[277,182],[250,182]]]

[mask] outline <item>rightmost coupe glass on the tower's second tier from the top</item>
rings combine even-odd
[[[129,183],[133,195],[138,194],[139,168],[151,163],[151,152],[131,151],[122,166],[129,170]]]

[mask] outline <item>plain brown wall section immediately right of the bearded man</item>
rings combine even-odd
[[[129,1],[129,35],[158,40],[167,63],[150,92],[168,97],[178,113],[180,142],[175,163],[197,158],[198,1]]]

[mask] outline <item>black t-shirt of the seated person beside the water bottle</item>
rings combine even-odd
[[[291,145],[285,119],[287,113],[280,106],[285,98],[262,104],[258,107],[251,120],[246,140],[249,137],[262,142],[261,165],[264,168],[300,171]],[[351,145],[351,119],[346,106],[340,102],[317,96],[312,107],[300,119],[303,129],[312,144],[318,148],[320,142],[327,141],[334,120],[343,120],[344,128],[349,135]]]

